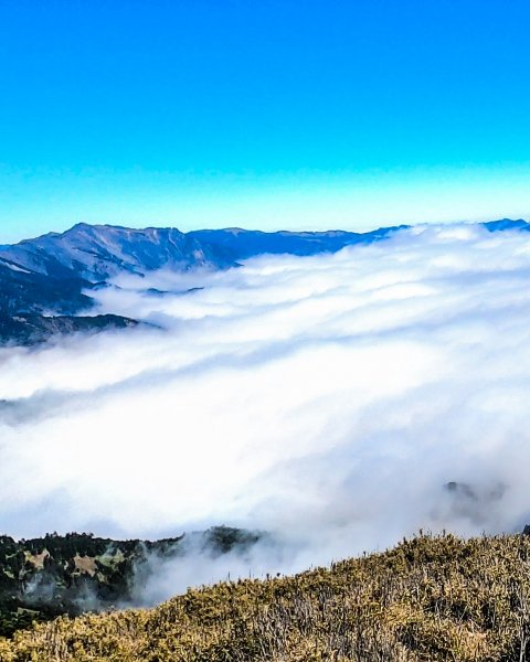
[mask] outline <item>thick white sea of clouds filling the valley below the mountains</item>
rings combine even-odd
[[[190,584],[530,522],[530,233],[425,226],[316,257],[121,278],[151,325],[0,350],[0,527],[267,531]]]

